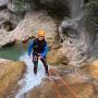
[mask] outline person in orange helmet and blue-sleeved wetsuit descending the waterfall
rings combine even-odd
[[[46,32],[44,29],[39,29],[37,34],[37,38],[35,38],[28,46],[28,56],[30,57],[33,50],[33,63],[34,63],[34,73],[37,73],[38,68],[38,59],[42,62],[46,74],[48,73],[48,64],[46,61],[47,52],[48,52],[48,45],[45,39]]]

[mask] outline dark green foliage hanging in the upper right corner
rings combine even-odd
[[[86,27],[87,30],[98,30],[98,0],[87,0],[86,4]]]

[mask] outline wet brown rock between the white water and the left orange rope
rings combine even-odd
[[[30,90],[26,95],[26,98],[57,98],[57,94],[54,93],[52,83],[46,81],[46,83]]]

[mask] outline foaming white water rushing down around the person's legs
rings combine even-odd
[[[45,69],[40,60],[38,60],[38,72],[37,75],[34,74],[34,64],[32,59],[25,53],[20,58],[20,61],[24,61],[27,70],[25,76],[19,82],[21,86],[15,98],[24,98],[24,95],[33,89],[35,86],[39,85],[45,77]]]

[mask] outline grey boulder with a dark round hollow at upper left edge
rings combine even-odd
[[[21,17],[13,14],[8,9],[0,11],[0,28],[5,30],[13,30],[15,26],[20,23]]]

